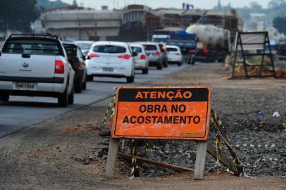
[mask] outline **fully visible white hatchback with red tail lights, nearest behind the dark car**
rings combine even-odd
[[[134,82],[135,59],[125,42],[94,42],[87,53],[87,80],[97,77],[126,77]]]

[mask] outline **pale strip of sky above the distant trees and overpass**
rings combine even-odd
[[[72,3],[73,0],[62,0],[67,3]],[[271,0],[220,0],[223,6],[229,3],[232,7],[243,7],[249,6],[252,1],[259,2],[264,8],[267,7],[269,1]],[[107,5],[109,8],[123,8],[128,4],[144,4],[150,6],[151,8],[181,8],[182,3],[188,3],[194,5],[194,8],[213,8],[218,4],[218,0],[77,0],[77,4],[83,4],[86,7],[101,9],[101,6]]]

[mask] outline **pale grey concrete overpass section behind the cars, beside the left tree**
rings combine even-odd
[[[42,13],[46,32],[62,39],[112,40],[118,36],[121,25],[120,11],[49,11]]]

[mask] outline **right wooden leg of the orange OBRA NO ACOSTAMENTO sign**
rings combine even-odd
[[[197,156],[194,165],[194,179],[204,179],[204,163],[206,162],[207,141],[197,142]]]

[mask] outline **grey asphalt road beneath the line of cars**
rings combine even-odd
[[[113,87],[138,85],[149,80],[160,80],[160,77],[164,75],[184,70],[189,66],[169,65],[163,70],[149,68],[148,75],[142,75],[142,72],[138,70],[133,84],[127,84],[125,78],[94,77],[93,82],[87,83],[87,90],[82,91],[81,94],[75,94],[75,103],[68,108],[59,108],[57,99],[54,98],[11,96],[8,103],[0,103],[0,138],[30,125],[54,118],[56,115],[106,99],[113,95]]]

